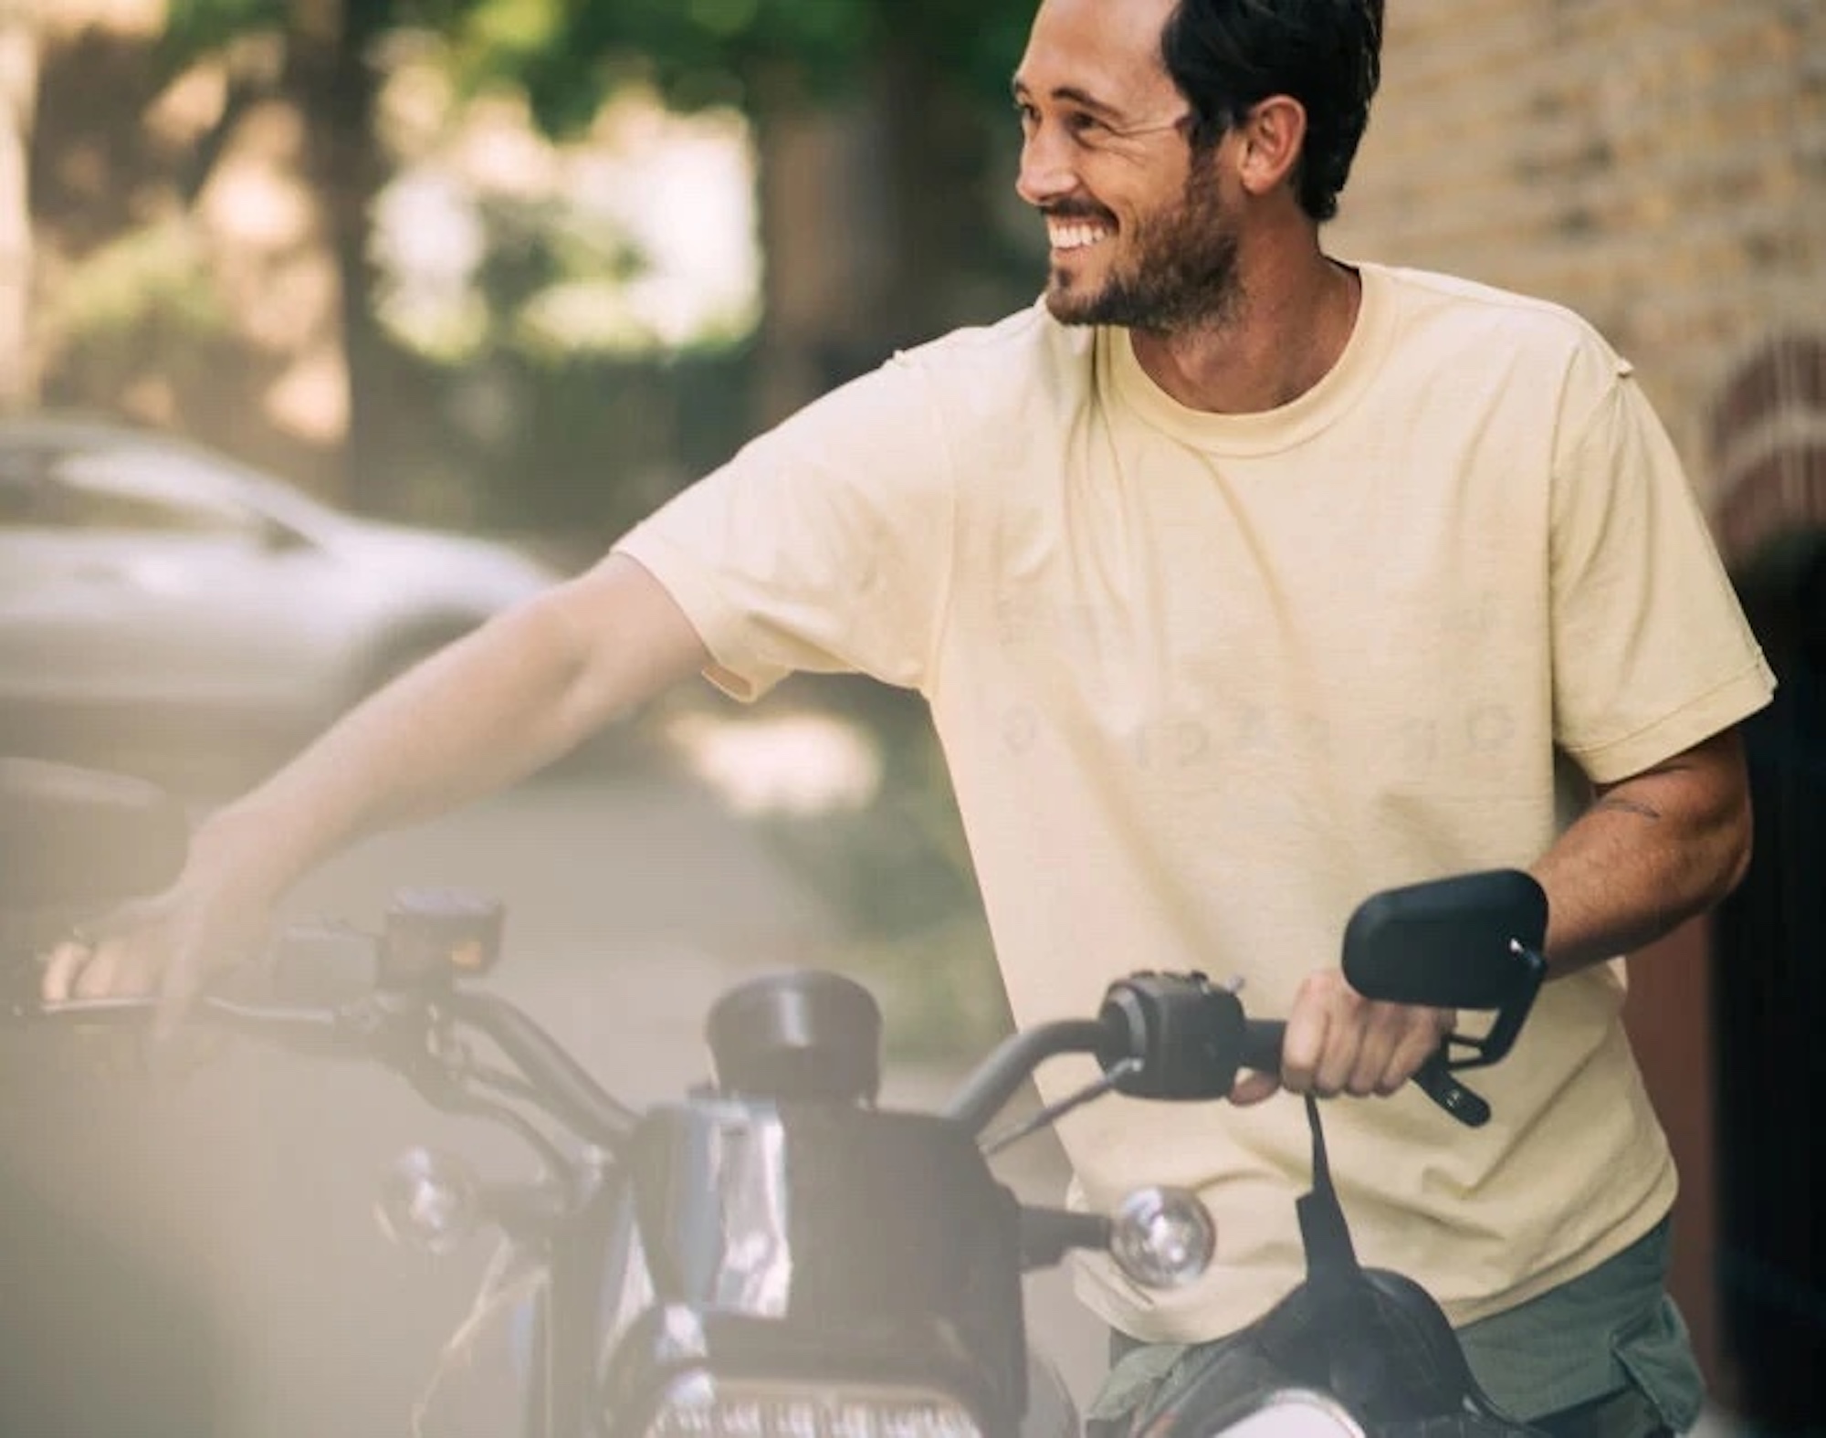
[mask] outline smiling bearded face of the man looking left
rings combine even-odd
[[[1046,215],[1046,307],[1068,325],[1222,319],[1236,223],[1160,55],[1176,0],[1043,0],[1015,73],[1021,197]]]

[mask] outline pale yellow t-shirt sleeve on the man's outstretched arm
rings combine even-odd
[[[796,670],[924,690],[955,495],[922,367],[895,360],[749,443],[623,537],[754,699]]]

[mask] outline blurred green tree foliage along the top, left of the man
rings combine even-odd
[[[981,318],[984,305],[1013,294],[1010,276],[1030,263],[999,234],[993,195],[1008,179],[1006,84],[1032,4],[172,0],[163,55],[177,73],[248,36],[281,42],[285,89],[316,137],[316,181],[351,281],[356,345],[363,312],[373,308],[362,234],[383,182],[371,120],[374,66],[389,36],[435,36],[460,93],[519,89],[553,137],[586,128],[604,97],[630,80],[685,111],[736,108],[756,128],[763,172],[776,131],[820,108],[855,109],[878,131],[876,193],[867,201],[876,223],[858,243],[871,246],[871,270],[884,279],[876,292],[858,296],[880,334],[824,341],[836,354],[820,365],[824,378],[840,380],[845,369],[924,338],[920,327],[935,318]],[[206,164],[205,150],[199,170]],[[946,203],[933,204],[933,195]],[[816,234],[816,224],[807,232]],[[771,239],[782,243],[778,234]]]

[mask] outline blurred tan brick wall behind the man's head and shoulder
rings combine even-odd
[[[1388,0],[1329,243],[1585,314],[1716,504],[1733,372],[1826,332],[1826,4]]]

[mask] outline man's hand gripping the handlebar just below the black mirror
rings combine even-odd
[[[1453,1009],[1373,1004],[1344,982],[1338,969],[1311,974],[1287,1016],[1282,1068],[1245,1073],[1231,1089],[1233,1104],[1258,1104],[1280,1088],[1335,1099],[1397,1093],[1457,1022]]]

